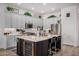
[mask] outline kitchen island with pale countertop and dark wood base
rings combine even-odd
[[[17,55],[47,56],[48,50],[49,50],[49,40],[53,40],[53,37],[59,37],[59,35],[17,36]],[[60,42],[59,48],[61,49],[61,42]]]

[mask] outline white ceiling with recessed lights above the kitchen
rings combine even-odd
[[[31,10],[39,14],[60,11],[61,8],[78,5],[78,3],[11,3],[12,5]]]

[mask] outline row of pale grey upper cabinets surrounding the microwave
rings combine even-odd
[[[42,20],[34,17],[28,17],[15,13],[6,12],[5,27],[6,28],[25,28],[25,23],[32,23],[34,28],[43,26]]]

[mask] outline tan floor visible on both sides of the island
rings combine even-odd
[[[15,50],[12,50],[12,49],[3,50],[3,49],[1,49],[0,56],[17,56]],[[79,47],[62,45],[61,51],[54,54],[54,56],[79,56]]]

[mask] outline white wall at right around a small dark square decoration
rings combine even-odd
[[[70,13],[70,17],[66,17]],[[77,46],[77,7],[71,6],[61,9],[62,43]]]

